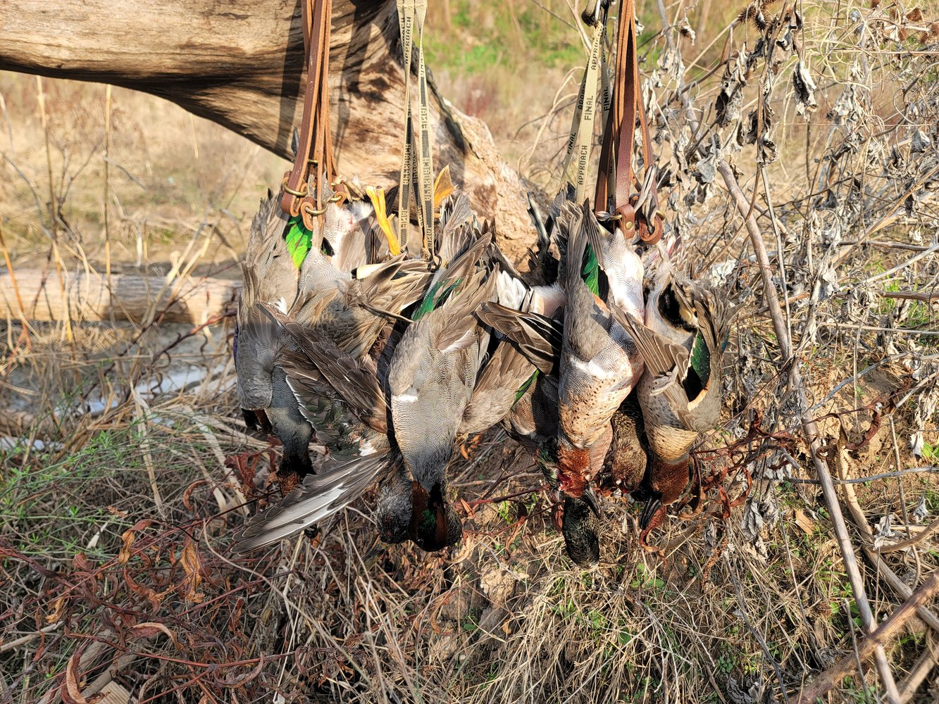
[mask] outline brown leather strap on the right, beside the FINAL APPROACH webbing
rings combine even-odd
[[[633,146],[636,117],[642,131],[643,183],[633,171]],[[612,202],[610,202],[612,184]],[[633,193],[637,186],[638,193]],[[596,181],[594,207],[611,210],[621,220],[624,233],[634,227],[639,238],[654,244],[662,237],[662,213],[657,208],[658,190],[652,163],[652,140],[646,120],[641,85],[639,84],[639,53],[636,39],[636,7],[634,0],[622,0],[617,33],[616,70],[612,105],[607,115],[600,168]],[[658,220],[659,222],[655,222]]]

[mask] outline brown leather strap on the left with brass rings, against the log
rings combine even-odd
[[[303,96],[297,156],[293,168],[284,175],[281,208],[289,217],[300,215],[304,226],[313,230],[314,219],[326,212],[321,187],[324,183],[331,183],[335,176],[328,84],[332,0],[303,0],[300,7],[306,54],[306,93]],[[311,166],[313,174],[310,173]],[[342,197],[340,192],[331,200]]]

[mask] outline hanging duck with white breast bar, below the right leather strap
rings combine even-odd
[[[562,491],[582,497],[593,476],[593,445],[642,373],[623,319],[643,319],[642,262],[618,230],[596,221],[589,204],[562,209],[568,232],[557,461]]]

